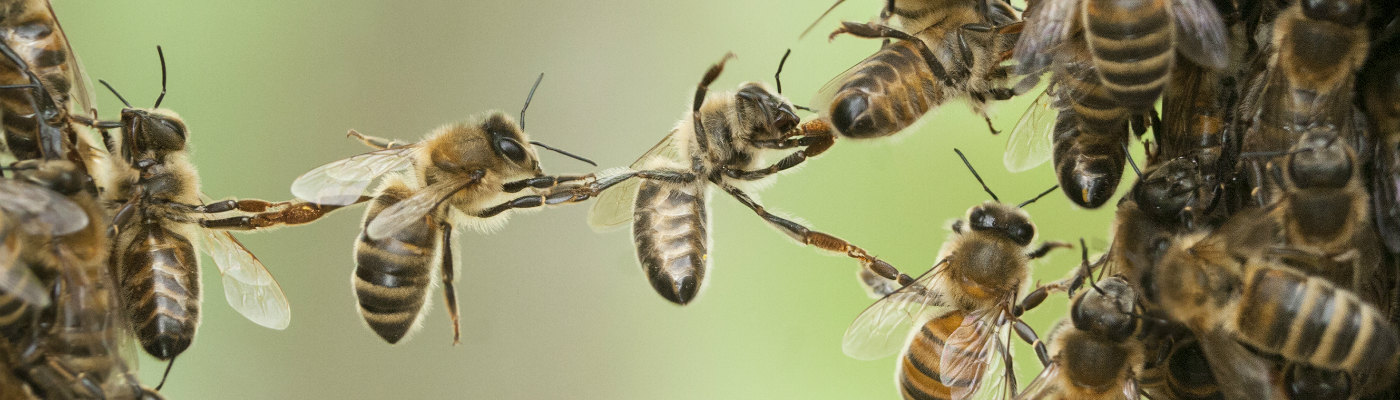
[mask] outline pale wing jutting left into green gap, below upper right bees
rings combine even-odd
[[[1050,161],[1053,150],[1051,131],[1060,109],[1054,106],[1050,90],[1040,92],[1036,101],[1021,115],[1016,127],[1007,138],[1007,152],[1001,155],[1001,164],[1007,171],[1022,172],[1036,168]]]

